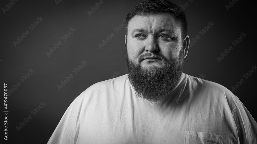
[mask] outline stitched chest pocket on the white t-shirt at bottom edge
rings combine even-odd
[[[207,132],[186,131],[185,144],[223,144],[223,137]]]

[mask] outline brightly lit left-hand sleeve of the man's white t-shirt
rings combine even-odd
[[[70,104],[47,144],[75,144],[79,96]]]

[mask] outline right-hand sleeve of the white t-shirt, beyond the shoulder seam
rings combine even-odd
[[[239,99],[233,118],[240,144],[257,143],[257,123]]]

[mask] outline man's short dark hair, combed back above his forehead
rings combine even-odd
[[[169,12],[176,16],[176,20],[178,20],[178,24],[181,27],[181,36],[184,39],[187,35],[187,19],[186,15],[183,11],[180,11],[179,7],[168,1],[168,0],[149,0],[144,1],[137,6],[135,6],[126,16],[125,21],[125,34],[127,36],[128,33],[128,22],[134,16],[146,15],[154,12]]]

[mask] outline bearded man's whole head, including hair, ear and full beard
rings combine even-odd
[[[166,0],[137,5],[126,17],[128,79],[136,95],[155,102],[169,94],[187,56],[187,22],[179,7]]]

